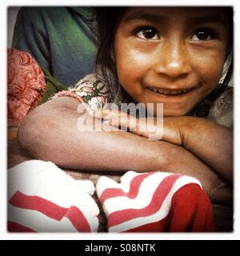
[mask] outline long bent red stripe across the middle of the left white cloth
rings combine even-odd
[[[76,230],[79,232],[90,232],[89,223],[82,214],[82,211],[76,206],[65,208],[58,206],[54,202],[50,202],[45,198],[22,194],[20,191],[17,191],[14,196],[10,198],[9,202],[12,206],[16,206],[18,208],[38,210],[38,212],[58,221],[63,217],[69,218]]]

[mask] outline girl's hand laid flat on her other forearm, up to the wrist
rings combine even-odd
[[[95,110],[94,118],[102,118],[109,126],[118,127],[154,140],[162,140],[182,146],[184,138],[180,130],[180,118],[134,118],[118,110]]]

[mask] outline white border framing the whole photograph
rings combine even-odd
[[[99,3],[101,2],[101,4]],[[162,2],[166,3],[166,1]],[[167,6],[233,6],[234,7],[234,46],[240,46],[240,4],[238,0],[202,0],[195,1],[184,0],[179,4],[179,0],[168,0]],[[117,4],[117,3],[116,3]],[[69,0],[67,2],[68,6],[110,6],[111,1],[92,1],[92,0]],[[121,4],[118,6],[146,6],[146,1],[144,0],[132,0],[131,2],[127,0],[122,0]],[[147,6],[164,6],[161,1],[150,0]],[[236,84],[240,81],[240,72],[234,73],[234,232],[233,233],[191,233],[191,234],[174,234],[174,233],[158,233],[158,234],[108,234],[108,233],[95,233],[95,234],[70,234],[70,233],[48,233],[48,234],[12,234],[6,231],[6,47],[7,47],[7,7],[8,6],[66,6],[65,0],[44,0],[41,2],[33,3],[32,0],[2,0],[0,3],[0,24],[1,24],[1,34],[2,40],[0,40],[0,46],[2,51],[2,58],[0,60],[1,66],[1,94],[0,94],[0,110],[2,120],[0,122],[0,152],[2,159],[0,161],[0,239],[4,240],[228,240],[228,239],[240,239],[240,213],[239,213],[239,186],[238,180],[239,175],[239,121],[237,118],[238,110],[240,109],[240,89]],[[237,63],[239,61],[239,50],[234,48],[234,70],[238,70]],[[94,241],[93,241],[94,242]]]

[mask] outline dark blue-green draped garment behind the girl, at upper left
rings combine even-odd
[[[96,47],[89,7],[22,7],[12,46],[29,52],[59,82],[74,86],[94,72]]]

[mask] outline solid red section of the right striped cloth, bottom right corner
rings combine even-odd
[[[150,222],[125,232],[213,232],[210,199],[198,184],[182,186],[173,196],[170,212],[158,222]]]

